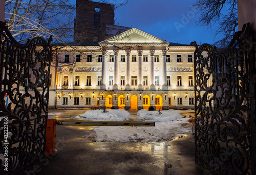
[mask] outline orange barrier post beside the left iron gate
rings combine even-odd
[[[47,120],[46,137],[46,155],[52,156],[56,145],[56,119]]]

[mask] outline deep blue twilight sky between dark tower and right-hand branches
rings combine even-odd
[[[129,0],[115,10],[116,25],[136,27],[168,42],[190,44],[214,43],[216,27],[211,29],[197,26],[199,14],[191,5],[196,0]],[[118,4],[125,0],[109,0]]]

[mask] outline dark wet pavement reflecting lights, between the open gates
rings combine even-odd
[[[73,119],[84,112],[50,110],[49,118]],[[136,120],[138,111],[128,112],[130,120]],[[203,174],[195,165],[191,134],[154,143],[95,142],[95,127],[57,126],[58,154],[35,174]]]

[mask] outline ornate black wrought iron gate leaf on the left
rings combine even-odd
[[[30,174],[45,161],[51,38],[22,45],[0,21],[0,39],[0,174]]]

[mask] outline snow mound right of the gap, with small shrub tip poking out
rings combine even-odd
[[[174,121],[183,118],[182,115],[175,111],[146,111],[140,110],[138,113],[138,121]]]

